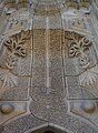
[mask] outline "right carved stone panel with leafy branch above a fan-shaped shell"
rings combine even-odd
[[[86,99],[82,94],[84,89],[97,96],[98,65],[92,42],[90,39],[70,31],[65,33],[65,38],[67,40],[65,42],[65,45],[67,45],[65,47],[65,51],[68,50],[65,53],[65,75],[67,78],[69,99],[76,99],[77,96],[78,99]],[[70,83],[72,82],[76,84],[75,90],[80,90],[80,95],[71,95],[70,90],[74,88],[70,86]],[[77,91],[75,92],[77,93]]]

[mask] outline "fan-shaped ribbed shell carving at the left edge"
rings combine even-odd
[[[2,89],[10,89],[18,84],[18,78],[9,70],[0,70],[0,80],[2,81]]]

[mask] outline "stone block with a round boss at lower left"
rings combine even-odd
[[[2,101],[0,102],[0,125],[3,125],[4,122],[24,113],[27,113],[27,102]]]

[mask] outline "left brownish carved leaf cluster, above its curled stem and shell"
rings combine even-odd
[[[23,44],[26,40],[30,39],[30,31],[21,31],[20,33],[10,37],[9,39],[4,40],[4,45],[12,52],[12,54],[17,54],[19,57],[24,58],[27,54]]]

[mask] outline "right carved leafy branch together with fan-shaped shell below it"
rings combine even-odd
[[[90,68],[90,47],[92,42],[86,37],[80,37],[72,33],[71,43],[68,49],[70,58],[77,58],[78,64],[85,70],[79,75],[80,85],[86,88],[96,88],[98,80],[98,66],[97,64]]]

